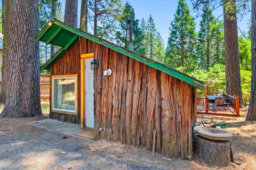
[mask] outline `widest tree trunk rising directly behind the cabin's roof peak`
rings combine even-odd
[[[75,28],[77,28],[77,8],[77,0],[66,0],[64,22]]]

